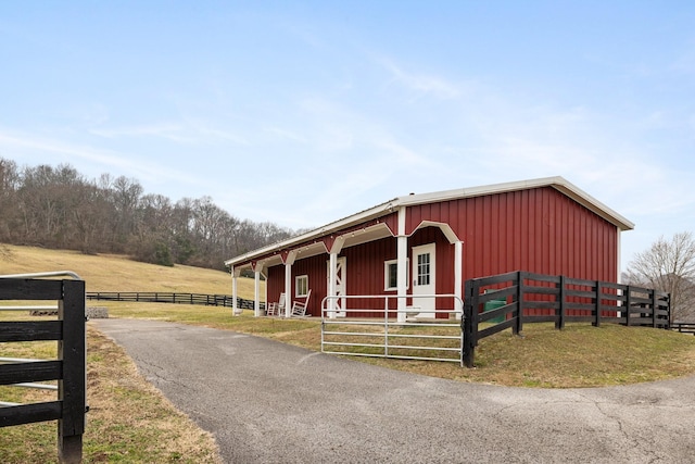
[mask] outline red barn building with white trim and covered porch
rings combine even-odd
[[[235,297],[241,272],[255,273],[256,315],[262,300],[280,293],[289,314],[309,290],[306,314],[314,316],[327,296],[338,297],[324,302],[338,316],[357,301],[341,296],[399,296],[399,309],[452,311],[451,299],[418,296],[460,297],[466,279],[519,269],[618,281],[620,233],[632,228],[563,177],[549,177],[399,197],[225,264]]]

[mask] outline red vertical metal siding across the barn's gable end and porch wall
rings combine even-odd
[[[618,276],[617,227],[552,187],[407,208],[408,258],[412,247],[435,242],[437,292],[453,293],[454,246],[437,227],[417,229],[422,221],[448,224],[464,242],[464,280],[518,269],[606,281]],[[395,214],[382,222],[395,235]],[[383,264],[396,258],[395,237],[344,248],[340,255],[346,258],[348,294],[395,294],[383,290]],[[327,260],[323,254],[292,266],[292,286],[294,276],[309,276],[308,312],[315,316],[327,292]],[[268,300],[277,301],[283,286],[283,266],[269,268]]]

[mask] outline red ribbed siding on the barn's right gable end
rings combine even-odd
[[[464,279],[518,269],[606,281],[618,277],[617,227],[554,188],[412,206],[406,230],[421,221],[450,224],[463,240]],[[453,275],[437,278],[438,291],[453,289]]]

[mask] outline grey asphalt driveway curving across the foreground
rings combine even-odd
[[[522,389],[179,324],[93,319],[227,463],[691,463],[695,377]]]

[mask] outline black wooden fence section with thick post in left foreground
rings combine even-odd
[[[85,281],[0,279],[0,300],[58,301],[58,321],[0,322],[0,342],[56,340],[58,359],[0,364],[0,385],[58,380],[58,400],[0,407],[0,427],[58,421],[59,459],[81,462],[86,405]]]

